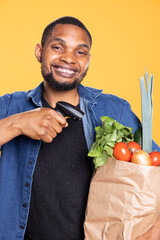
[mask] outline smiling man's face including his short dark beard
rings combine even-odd
[[[90,60],[90,41],[78,26],[57,24],[41,52],[41,70],[52,88],[71,90],[84,78]]]

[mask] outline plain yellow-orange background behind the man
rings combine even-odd
[[[43,29],[61,16],[79,18],[93,37],[83,84],[128,100],[141,118],[139,78],[154,75],[153,138],[160,145],[159,0],[0,0],[0,95],[41,81],[34,47]]]

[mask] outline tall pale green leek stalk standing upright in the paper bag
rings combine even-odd
[[[146,82],[146,84],[145,84]],[[153,119],[153,75],[148,80],[146,71],[145,80],[140,77],[141,108],[142,108],[142,148],[147,153],[152,152],[152,119]]]

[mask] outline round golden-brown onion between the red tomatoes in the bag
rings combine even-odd
[[[143,150],[135,150],[132,154],[131,162],[140,165],[151,166],[151,157]]]

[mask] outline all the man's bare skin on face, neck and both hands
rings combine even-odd
[[[48,37],[44,47],[36,45],[35,55],[45,73],[52,73],[59,83],[80,82],[90,61],[90,41],[87,33],[74,25],[58,24]],[[68,91],[53,89],[44,80],[44,97],[54,108],[57,101],[67,101],[73,105],[79,103],[77,88]],[[32,139],[47,143],[67,127],[66,119],[48,108],[19,113],[0,120],[0,145],[11,139],[26,135]],[[159,240],[160,217],[154,226],[137,240]]]

